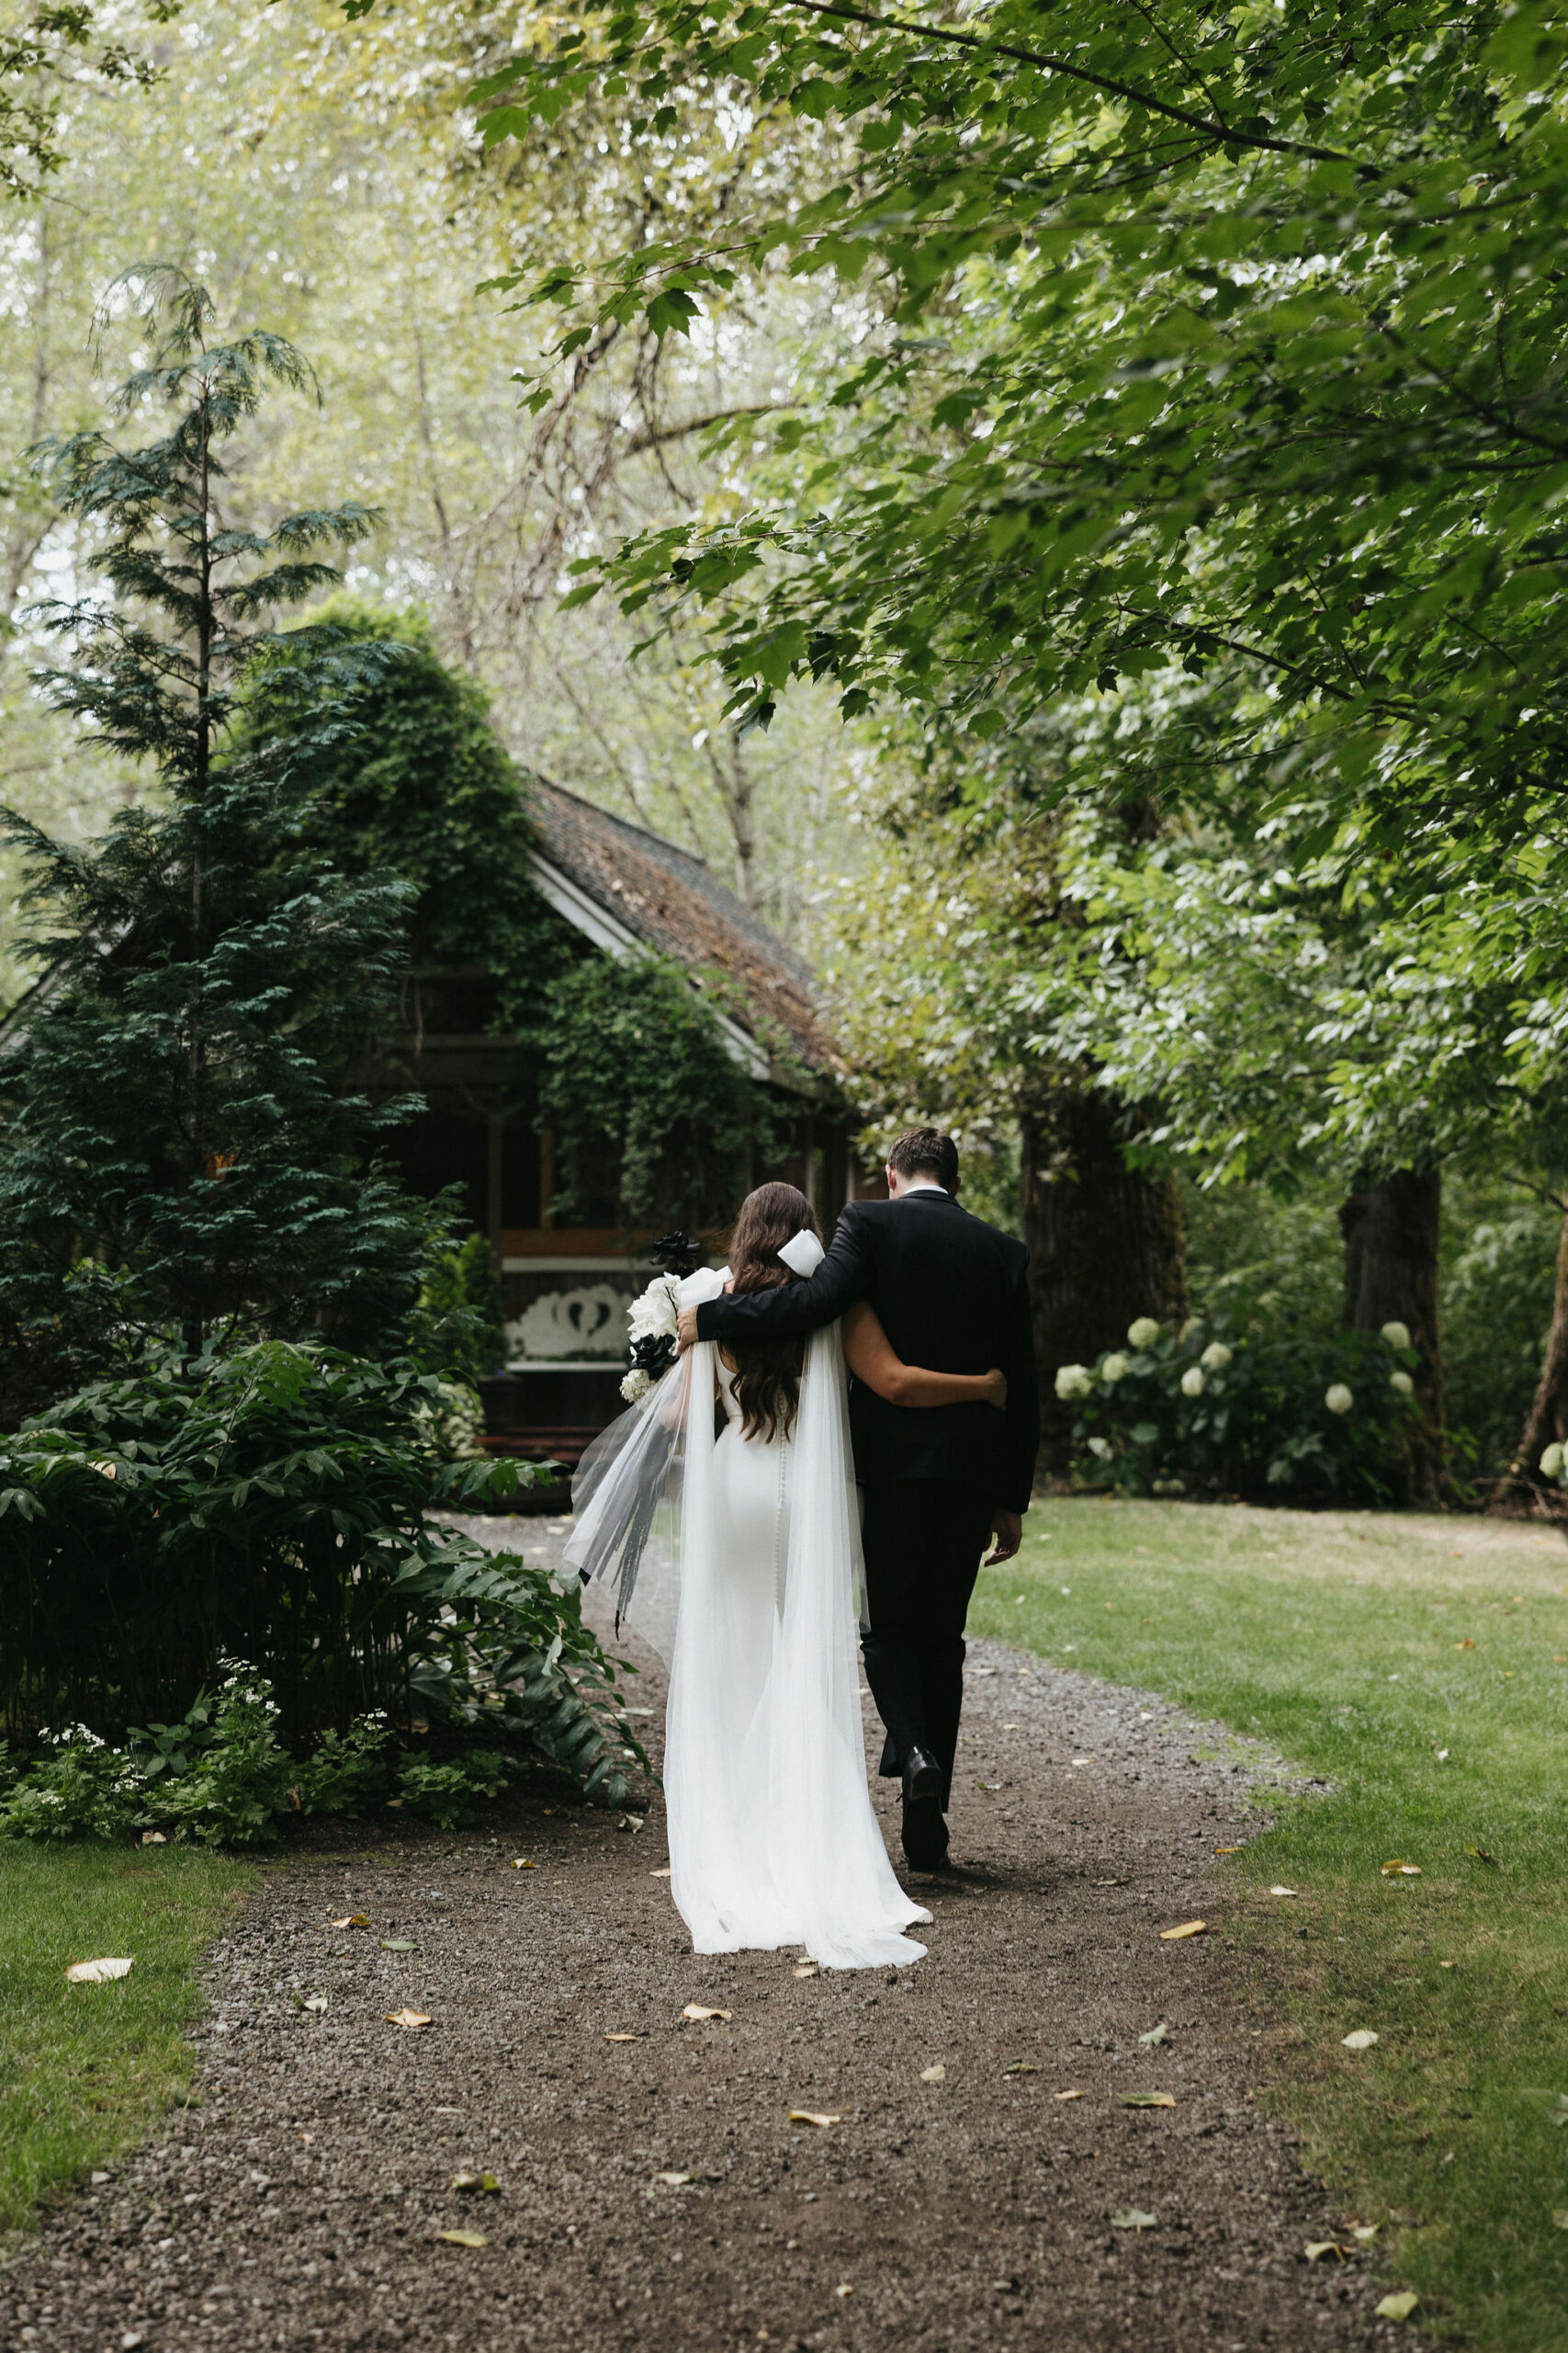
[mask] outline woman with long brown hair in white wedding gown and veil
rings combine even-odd
[[[766,1289],[820,1259],[806,1195],[764,1184],[731,1266],[670,1292]],[[698,1953],[804,1946],[870,1969],[926,1951],[903,1932],[931,1913],[893,1878],[865,1786],[846,1365],[893,1405],[1006,1402],[999,1372],[900,1362],[858,1301],[809,1339],[698,1344],[574,1480],[567,1560],[670,1664],[670,1892]]]

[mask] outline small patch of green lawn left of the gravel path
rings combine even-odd
[[[0,1842],[0,2233],[186,2097],[193,1969],[249,1880],[183,1847]],[[66,1984],[75,1960],[125,1955],[115,1984]]]

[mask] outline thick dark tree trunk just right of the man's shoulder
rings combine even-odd
[[[1023,1233],[1048,1468],[1065,1471],[1072,1407],[1060,1365],[1093,1365],[1138,1315],[1187,1315],[1182,1209],[1171,1176],[1128,1169],[1124,1106],[1103,1087],[1051,1087],[1023,1113]]]

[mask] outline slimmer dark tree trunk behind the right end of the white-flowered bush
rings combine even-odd
[[[1443,1447],[1443,1344],[1436,1313],[1436,1245],[1443,1212],[1441,1169],[1396,1169],[1361,1186],[1340,1209],[1345,1235],[1347,1332],[1382,1332],[1401,1322],[1420,1355],[1415,1400],[1420,1424],[1410,1447],[1410,1478],[1420,1497],[1436,1497],[1448,1478]]]

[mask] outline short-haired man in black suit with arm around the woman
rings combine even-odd
[[[865,1489],[865,1678],[886,1725],[882,1772],[903,1779],[903,1852],[914,1871],[947,1859],[947,1798],[964,1704],[964,1617],[987,1562],[1023,1541],[1039,1391],[1025,1271],[1030,1254],[959,1209],[959,1151],[912,1127],[886,1165],[889,1200],[851,1200],[809,1282],[710,1299],[679,1320],[693,1339],[792,1339],[870,1299],[905,1365],[1006,1372],[990,1405],[886,1405],[851,1381],[856,1480]]]

